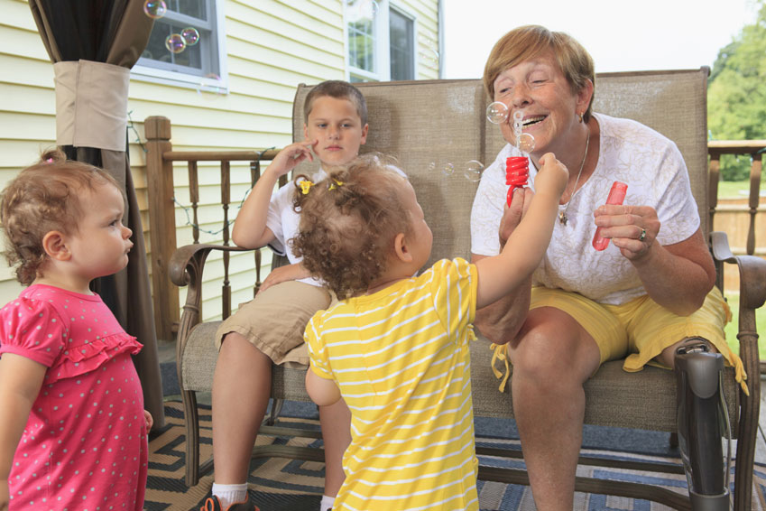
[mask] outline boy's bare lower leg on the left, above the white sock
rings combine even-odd
[[[272,359],[242,335],[226,334],[213,377],[213,460],[217,484],[247,481],[253,444],[271,388]]]

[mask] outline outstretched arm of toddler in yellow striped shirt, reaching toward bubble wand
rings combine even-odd
[[[540,172],[535,178],[535,195],[530,209],[513,230],[503,246],[503,252],[476,262],[479,275],[477,309],[510,293],[540,265],[553,233],[558,200],[567,187],[568,179],[567,167],[553,153],[546,153],[540,158]]]

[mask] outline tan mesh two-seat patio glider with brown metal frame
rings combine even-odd
[[[708,70],[647,71],[599,74],[595,83],[595,111],[636,119],[657,129],[678,144],[688,164],[692,190],[697,199],[702,227],[708,236],[708,172],[706,148],[706,79]],[[367,99],[370,132],[363,151],[392,154],[410,176],[429,226],[433,230],[433,254],[429,265],[443,257],[470,255],[469,218],[476,183],[466,180],[466,163],[494,160],[504,141],[496,126],[487,123],[489,102],[480,80],[433,80],[357,84]],[[302,104],[310,87],[300,85],[293,103],[293,138],[302,139]],[[450,167],[451,165],[451,167]],[[301,172],[300,167],[296,172]],[[759,415],[759,359],[754,310],[766,298],[766,261],[753,256],[734,256],[723,233],[709,233],[715,255],[719,287],[724,263],[740,272],[740,354],[750,376],[750,395],[734,382],[734,371],[724,370],[724,395],[734,436],[738,439],[734,478],[735,508],[750,508],[752,463]],[[211,460],[198,460],[198,412],[196,393],[212,386],[217,352],[213,337],[218,321],[200,322],[202,270],[213,250],[235,247],[183,246],[171,261],[171,278],[188,285],[178,337],[178,373],[187,425],[186,481],[198,482],[200,471]],[[498,392],[498,380],[490,367],[489,341],[480,338],[472,347],[472,381],[476,416],[512,418],[508,391]],[[586,384],[587,424],[660,432],[676,431],[676,385],[672,371],[646,367],[627,373],[623,361],[604,364]],[[272,396],[309,401],[304,370],[275,367]],[[511,380],[512,385],[512,380]],[[275,407],[275,408],[278,408]],[[262,433],[274,432],[265,426]],[[289,433],[296,433],[290,431]],[[299,432],[299,434],[302,434]],[[520,458],[519,451],[477,449],[479,454]],[[289,446],[257,448],[255,456],[280,456],[323,460],[321,451]],[[605,463],[610,467],[657,470],[683,474],[683,468],[658,463],[619,463],[581,457],[583,465]],[[528,484],[518,469],[481,466],[479,477],[507,483]],[[577,491],[623,497],[640,497],[689,509],[688,496],[666,488],[632,482],[577,478]]]

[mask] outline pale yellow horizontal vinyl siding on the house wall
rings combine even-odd
[[[128,111],[129,154],[134,185],[142,210],[147,251],[151,254],[146,194],[143,120],[148,116],[171,119],[173,149],[258,150],[283,147],[292,141],[291,113],[295,88],[301,82],[346,79],[346,42],[343,0],[224,0],[226,94],[199,91],[190,84],[168,85],[133,74]],[[418,79],[438,78],[438,0],[393,0],[392,7],[416,20]],[[29,5],[21,0],[0,0],[0,186],[13,179],[40,151],[55,144],[55,93],[53,70]],[[221,225],[220,171],[217,163],[199,164],[199,227],[217,232]],[[189,206],[185,163],[173,172],[176,199]],[[229,218],[235,218],[249,189],[246,165],[232,165],[232,203]],[[190,216],[189,210],[189,216]],[[191,242],[191,227],[182,207],[176,209],[179,245]],[[200,241],[219,243],[221,234],[200,232]],[[261,279],[268,273],[271,254],[263,251]],[[235,255],[230,261],[232,303],[252,297],[254,258]],[[220,316],[220,255],[206,265],[204,315]],[[0,302],[15,297],[21,286],[13,271],[0,262]],[[185,290],[180,291],[180,303]]]

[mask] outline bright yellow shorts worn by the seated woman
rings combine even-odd
[[[702,307],[689,316],[678,316],[648,295],[622,305],[594,302],[578,293],[542,286],[532,288],[530,310],[554,307],[567,312],[595,339],[601,352],[601,363],[625,358],[623,369],[641,371],[647,363],[660,366],[654,360],[664,348],[687,337],[704,337],[736,368],[737,381],[742,383],[742,360],[726,343],[724,325],[731,320],[731,311],[717,287],[707,293]]]

